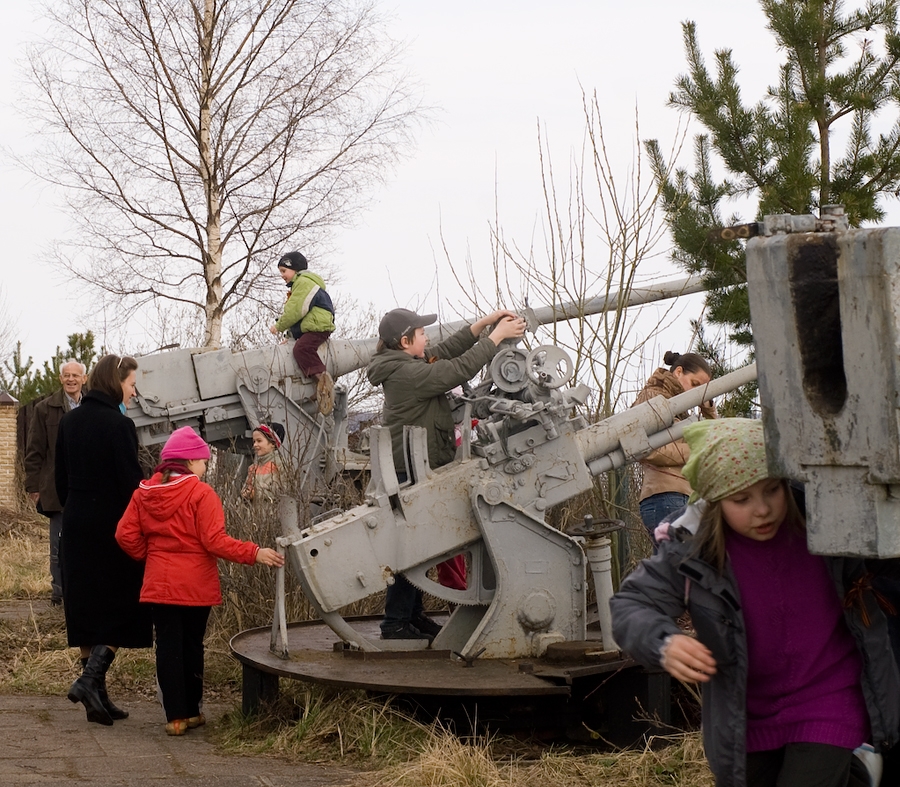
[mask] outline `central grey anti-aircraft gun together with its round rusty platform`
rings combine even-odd
[[[282,498],[278,543],[319,621],[287,625],[279,570],[271,631],[242,632],[231,642],[244,665],[245,710],[285,676],[414,695],[419,706],[427,698],[442,714],[453,702],[447,695],[477,698],[474,715],[482,719],[486,698],[493,698],[504,716],[515,707],[526,725],[552,718],[552,726],[564,723],[579,735],[584,719],[602,709],[596,726],[621,745],[646,731],[632,721],[635,696],[668,722],[668,677],[644,673],[612,637],[608,523],[585,522],[564,533],[546,517],[591,489],[595,476],[680,437],[690,419],[676,415],[752,381],[755,367],[596,424],[576,414],[589,389],[570,386],[570,375],[568,356],[555,346],[501,347],[467,397],[479,422],[474,439],[463,429],[457,460],[432,469],[425,431],[407,427],[399,469],[409,481],[400,483],[390,432],[375,427],[362,505],[301,527],[297,501]],[[467,412],[462,423],[469,422]],[[469,564],[464,590],[430,579],[433,566],[460,553]],[[599,628],[588,625],[588,567]],[[382,640],[371,618],[342,615],[400,573],[454,607],[430,647],[421,639]],[[326,626],[331,636],[323,639]],[[527,707],[510,704],[523,697]],[[463,723],[473,717],[471,709],[459,713]]]

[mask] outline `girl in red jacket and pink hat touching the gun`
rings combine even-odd
[[[141,602],[151,605],[169,735],[206,722],[200,713],[203,637],[210,608],[222,603],[216,559],[284,565],[274,549],[225,532],[222,502],[200,480],[209,456],[209,446],[189,426],[172,432],[161,464],[135,490],[116,529],[119,546],[147,562]]]

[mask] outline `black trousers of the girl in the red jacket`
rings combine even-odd
[[[166,721],[200,713],[203,697],[203,637],[209,607],[153,604],[156,629],[156,679]]]

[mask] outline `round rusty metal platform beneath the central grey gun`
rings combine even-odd
[[[432,617],[444,623],[447,616]],[[378,638],[380,616],[346,620],[366,637]],[[231,639],[231,651],[243,665],[248,714],[277,696],[280,678],[289,678],[391,694],[426,717],[451,720],[457,729],[477,718],[516,732],[565,730],[566,737],[582,742],[596,742],[593,731],[600,730],[603,740],[630,746],[648,731],[659,732],[639,717],[649,713],[663,725],[670,719],[668,675],[646,673],[633,661],[600,653],[596,639],[551,645],[540,659],[475,659],[471,666],[449,651],[347,650],[321,621],[288,626],[288,659],[271,652],[270,642],[269,627]]]

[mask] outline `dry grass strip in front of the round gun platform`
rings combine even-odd
[[[217,742],[241,755],[339,762],[365,770],[360,787],[712,787],[699,733],[598,753],[506,738],[461,739],[387,700],[292,683],[259,716],[238,712]]]

